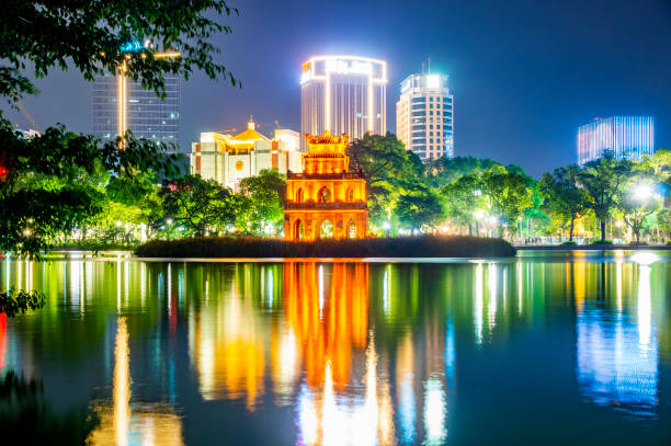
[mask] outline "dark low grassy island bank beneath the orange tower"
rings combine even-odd
[[[491,258],[512,256],[504,240],[476,237],[399,237],[287,242],[253,237],[155,240],[138,247],[140,258]]]

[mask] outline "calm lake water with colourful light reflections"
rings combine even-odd
[[[0,262],[0,376],[94,445],[671,444],[671,256]],[[0,404],[1,407],[1,404]]]

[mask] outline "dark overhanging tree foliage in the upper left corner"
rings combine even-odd
[[[125,62],[126,76],[143,87],[164,93],[162,73],[189,76],[194,69],[209,78],[238,81],[215,55],[209,38],[230,33],[216,19],[237,14],[223,0],[5,0],[0,14],[0,94],[15,99],[35,89],[25,77],[30,67],[37,78],[54,67],[73,66],[86,80],[116,73]],[[213,14],[215,13],[215,14]],[[139,43],[138,46],[128,44]],[[145,42],[150,45],[145,47]],[[181,57],[156,55],[177,50]]]

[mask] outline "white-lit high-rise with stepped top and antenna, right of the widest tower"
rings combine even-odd
[[[396,135],[427,162],[454,156],[454,104],[447,76],[410,75],[400,84]]]

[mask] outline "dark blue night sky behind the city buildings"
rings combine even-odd
[[[215,43],[243,87],[196,75],[182,85],[181,146],[200,131],[300,128],[300,64],[318,54],[388,62],[387,126],[399,82],[450,76],[455,156],[521,164],[538,176],[576,161],[576,130],[592,117],[652,115],[656,147],[671,148],[671,0],[230,1],[231,35]],[[24,101],[46,127],[91,131],[91,85],[57,69]],[[7,107],[5,107],[7,108]],[[9,112],[22,127],[27,121]]]

